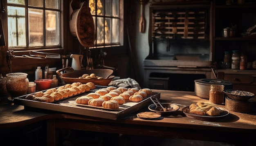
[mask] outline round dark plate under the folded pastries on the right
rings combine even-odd
[[[197,115],[197,114],[190,113],[189,106],[182,108],[182,112],[189,118],[199,119],[199,120],[217,120],[217,119],[221,119],[222,117],[225,117],[229,114],[229,111],[226,108],[221,108],[221,107],[218,107],[218,108],[220,108],[223,112],[220,113],[220,115],[216,115],[216,116]]]

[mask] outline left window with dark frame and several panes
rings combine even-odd
[[[7,10],[9,48],[61,45],[60,0],[7,0]]]

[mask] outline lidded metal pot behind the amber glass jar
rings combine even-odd
[[[209,99],[211,84],[224,85],[224,90],[233,89],[233,84],[231,82],[218,79],[198,79],[195,80],[195,95],[204,99]]]

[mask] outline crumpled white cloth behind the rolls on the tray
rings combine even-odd
[[[131,86],[132,88],[141,89],[141,87],[139,86],[139,83],[134,79],[131,79],[130,77],[126,79],[118,79],[118,80],[111,81],[108,85],[109,86],[127,86],[128,85],[128,86]]]

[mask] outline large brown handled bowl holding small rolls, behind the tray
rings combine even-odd
[[[61,74],[61,71],[65,71],[65,70],[68,70],[67,73]],[[92,69],[92,70],[74,71],[74,69],[72,69],[71,67],[63,68],[56,71],[56,73],[60,75],[61,80],[65,82],[65,84],[72,84],[74,82],[81,82],[83,84],[86,84],[88,82],[93,82],[95,85],[99,85],[99,86],[108,86],[108,84],[115,77],[114,75],[112,75],[113,72],[114,71],[111,69]],[[99,77],[103,77],[103,79],[79,79],[78,78],[85,73],[87,73],[88,75],[90,75],[91,73],[94,73]]]

